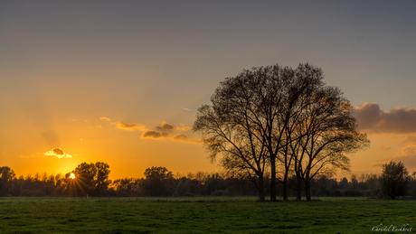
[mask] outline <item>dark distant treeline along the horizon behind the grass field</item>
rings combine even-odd
[[[405,169],[404,169],[405,170]],[[71,173],[75,178],[71,178]],[[35,173],[24,177],[15,176],[8,167],[0,167],[0,196],[258,196],[255,183],[249,179],[234,178],[226,173],[188,173],[186,176],[169,172],[165,167],[151,167],[145,171],[144,178],[123,178],[110,181],[109,165],[105,163],[80,164],[74,171],[66,174]],[[266,188],[270,177],[266,176]],[[252,178],[251,178],[252,179]],[[288,180],[288,195],[296,197],[296,176]],[[399,184],[399,183],[395,183]],[[353,174],[348,180],[337,180],[320,175],[311,183],[313,197],[372,197],[392,198],[386,190],[383,174]],[[304,188],[302,188],[304,190]],[[416,173],[405,176],[402,188],[396,189],[397,196],[416,198]],[[283,195],[282,183],[277,185],[278,196]],[[269,193],[269,189],[266,190]]]

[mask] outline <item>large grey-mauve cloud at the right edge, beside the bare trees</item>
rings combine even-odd
[[[353,115],[364,132],[372,134],[416,133],[416,108],[393,108],[383,111],[375,103],[364,103]]]

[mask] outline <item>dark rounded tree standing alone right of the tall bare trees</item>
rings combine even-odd
[[[394,200],[397,196],[404,196],[409,185],[409,172],[402,162],[391,161],[383,164],[383,174],[381,176],[382,190],[384,195]]]

